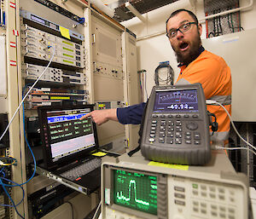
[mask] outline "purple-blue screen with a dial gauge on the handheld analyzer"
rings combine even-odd
[[[156,91],[154,112],[198,112],[196,89]]]

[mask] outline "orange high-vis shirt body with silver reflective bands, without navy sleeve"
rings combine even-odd
[[[189,66],[181,66],[176,84],[201,83],[206,99],[218,101],[231,114],[231,73],[223,58],[204,50]],[[225,141],[229,138],[230,118],[218,105],[207,105],[207,110],[215,114],[218,131],[212,141]]]

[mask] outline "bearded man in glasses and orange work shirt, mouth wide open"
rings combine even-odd
[[[181,72],[176,84],[201,83],[206,99],[218,101],[231,112],[231,74],[230,68],[218,55],[205,50],[201,45],[202,26],[191,11],[179,9],[166,20],[166,35],[177,56]],[[96,124],[108,120],[121,124],[140,124],[145,103],[131,107],[108,109],[88,113]],[[230,119],[222,107],[207,106],[207,110],[217,117],[218,132],[212,136],[213,141],[227,141]]]

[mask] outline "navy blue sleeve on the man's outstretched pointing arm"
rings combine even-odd
[[[143,111],[146,103],[132,105],[130,107],[118,108],[117,118],[120,124],[141,124]]]

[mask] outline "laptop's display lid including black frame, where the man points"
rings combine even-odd
[[[98,148],[96,125],[91,118],[79,120],[92,105],[38,107],[44,162],[55,169],[83,158]]]

